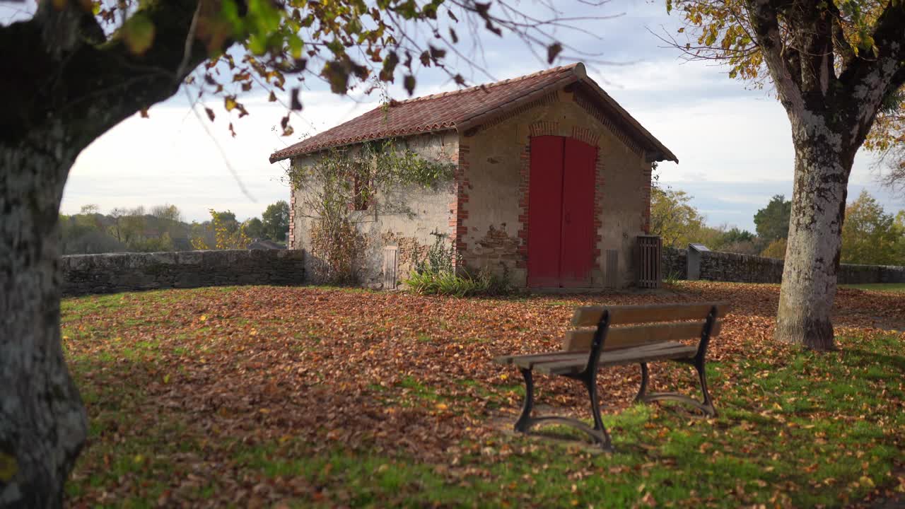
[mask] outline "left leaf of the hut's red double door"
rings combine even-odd
[[[528,189],[529,286],[559,286],[563,149],[561,137],[531,138]]]

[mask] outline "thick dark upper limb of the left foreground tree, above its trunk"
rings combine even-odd
[[[15,143],[41,126],[64,126],[77,152],[138,110],[166,100],[209,56],[192,30],[201,22],[195,14],[207,11],[217,12],[213,0],[148,3],[132,15],[153,24],[153,43],[136,54],[123,29],[104,37],[93,14],[77,2],[60,9],[42,2],[31,20],[0,28],[0,44],[26,49],[0,61],[0,74],[10,77],[0,81],[0,101],[12,113],[0,120],[0,139]],[[219,49],[232,43],[225,38]]]

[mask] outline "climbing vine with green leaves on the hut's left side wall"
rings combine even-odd
[[[292,165],[288,177],[300,191],[300,216],[309,217],[314,276],[324,283],[356,283],[357,264],[367,243],[357,223],[380,214],[412,211],[394,188],[435,189],[449,182],[455,165],[424,158],[393,139],[325,150],[310,163]]]

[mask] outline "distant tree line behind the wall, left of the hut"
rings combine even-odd
[[[246,249],[258,239],[284,243],[289,230],[289,204],[283,200],[243,222],[229,210],[210,213],[210,220],[186,223],[175,205],[117,207],[107,214],[97,205],[82,206],[78,214],[60,215],[62,253]]]

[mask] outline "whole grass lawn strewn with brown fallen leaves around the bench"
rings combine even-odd
[[[778,286],[453,299],[225,287],[65,299],[90,416],[81,506],[838,507],[905,492],[905,295],[842,289],[840,351],[769,340]],[[617,451],[511,433],[523,389],[491,363],[556,349],[575,305],[729,300],[708,375],[719,418],[635,406],[601,371]],[[538,403],[589,417],[579,384]],[[654,389],[695,389],[654,364]],[[551,434],[571,437],[560,428]]]

